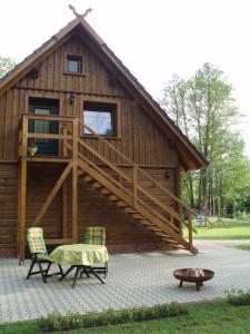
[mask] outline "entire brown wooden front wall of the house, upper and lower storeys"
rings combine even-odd
[[[69,75],[64,70],[66,55],[82,55],[84,75]],[[142,107],[130,96],[122,82],[111,82],[112,76],[81,40],[72,37],[46,60],[37,66],[38,78],[26,76],[13,88],[0,97],[0,183],[1,209],[0,248],[9,245],[10,254],[16,249],[17,225],[17,158],[18,158],[18,124],[22,112],[28,112],[29,97],[59,99],[60,115],[81,117],[83,101],[108,101],[119,106],[120,138],[108,139],[128,158],[150,171],[153,177],[179,195],[179,177],[177,176],[178,154],[170,138],[153,122]],[[73,105],[69,102],[71,95],[76,96]],[[117,160],[97,139],[88,140],[91,146],[113,161]],[[2,161],[2,163],[1,163]],[[3,164],[4,161],[4,164]],[[7,164],[8,163],[8,164]],[[150,169],[151,166],[151,169]],[[167,168],[172,168],[168,178]],[[44,168],[44,170],[42,170]],[[168,169],[169,170],[169,169]],[[60,170],[50,167],[29,168],[28,171],[28,225],[34,217],[51,189]],[[8,195],[10,193],[10,195]],[[30,200],[32,198],[32,200]],[[166,197],[169,203],[169,199]],[[6,209],[11,207],[11,210]],[[110,249],[143,250],[166,248],[166,244],[137,225],[123,213],[118,213],[107,199],[96,194],[86,185],[80,186],[79,195],[79,239],[87,225],[103,225],[107,227]],[[43,217],[41,226],[50,238],[61,235],[61,198],[57,197],[51,208]],[[140,244],[138,240],[140,239]],[[7,247],[7,248],[8,248]],[[12,250],[11,250],[12,249]]]

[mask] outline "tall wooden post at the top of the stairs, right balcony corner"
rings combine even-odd
[[[72,239],[78,242],[78,121],[73,120],[72,145]]]

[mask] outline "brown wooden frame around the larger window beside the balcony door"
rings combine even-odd
[[[111,105],[114,106],[113,112],[114,112],[114,136],[104,136],[104,135],[99,135],[102,138],[106,139],[121,139],[121,117],[120,117],[120,101],[116,99],[106,99],[106,98],[84,98],[82,99],[81,106],[82,109],[80,111],[80,119],[82,122],[84,122],[84,104],[96,104],[96,105]],[[83,129],[81,130],[80,137],[82,138],[97,138],[97,136],[91,135],[91,134],[83,134]]]

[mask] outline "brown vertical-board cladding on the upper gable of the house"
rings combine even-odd
[[[84,55],[86,76],[64,76],[66,55]],[[167,136],[128,95],[121,82],[110,85],[111,73],[82,41],[68,40],[37,67],[39,68],[37,78],[29,76],[22,78],[17,84],[17,87],[22,87],[21,89],[12,88],[0,97],[0,160],[17,159],[20,114],[28,111],[29,97],[40,97],[58,99],[60,116],[79,118],[82,117],[84,101],[113,104],[118,110],[118,136],[109,140],[116,148],[138,164],[154,166],[178,164],[177,151]],[[74,101],[70,104],[70,97],[74,91],[77,92]],[[94,148],[107,158],[114,158],[109,151],[103,151],[103,147],[94,141],[94,138],[86,140],[93,141]]]

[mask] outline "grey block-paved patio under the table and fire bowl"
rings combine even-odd
[[[241,242],[242,243],[242,242]],[[170,302],[199,302],[222,297],[231,287],[250,288],[250,252],[237,249],[234,243],[199,242],[198,256],[187,252],[153,252],[110,256],[109,275],[101,285],[91,277],[63,282],[56,277],[43,284],[41,277],[26,279],[29,262],[0,259],[0,322],[32,320],[58,312],[87,313],[151,306]],[[194,284],[172,276],[176,268],[206,267],[216,272],[200,292]]]

